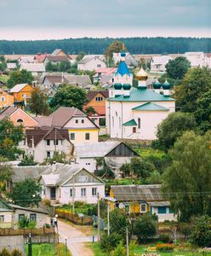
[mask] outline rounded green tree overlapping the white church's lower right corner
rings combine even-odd
[[[170,113],[157,127],[157,143],[160,148],[168,151],[184,131],[196,129],[197,123],[191,113]]]

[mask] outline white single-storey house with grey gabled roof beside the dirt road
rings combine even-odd
[[[43,187],[42,198],[47,198],[53,203],[84,201],[96,204],[98,193],[100,198],[105,195],[105,183],[77,164],[54,164],[43,172],[39,183]]]

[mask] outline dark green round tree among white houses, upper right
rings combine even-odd
[[[166,64],[166,72],[171,79],[183,79],[189,68],[191,62],[183,56],[176,57]]]

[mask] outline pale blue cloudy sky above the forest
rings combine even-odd
[[[0,39],[211,37],[211,0],[0,0]]]

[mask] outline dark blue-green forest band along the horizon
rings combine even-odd
[[[173,54],[186,51],[211,52],[211,38],[70,38],[61,40],[0,41],[0,55],[51,53],[64,49],[68,54],[104,54],[115,40],[122,41],[132,54]]]

